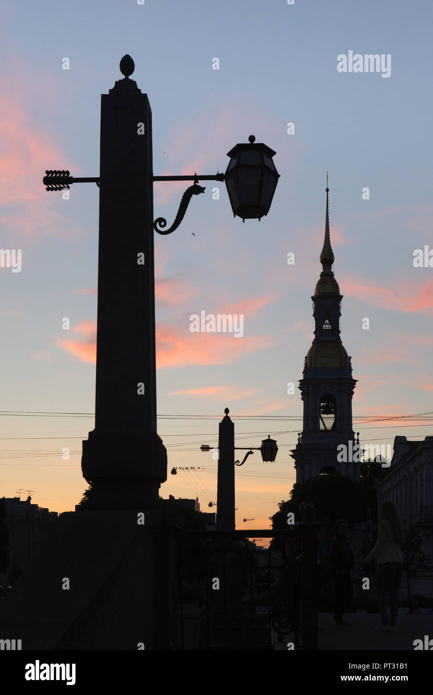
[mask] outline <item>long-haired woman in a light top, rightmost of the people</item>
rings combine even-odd
[[[405,529],[398,518],[397,509],[386,500],[380,506],[382,521],[379,525],[376,545],[366,557],[366,562],[377,562],[377,601],[382,625],[374,630],[395,632],[398,613],[398,591],[402,576],[402,545],[405,542]],[[389,616],[387,607],[389,606]]]

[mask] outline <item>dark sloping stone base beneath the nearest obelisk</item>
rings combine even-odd
[[[179,648],[176,530],[156,510],[61,514],[1,602],[1,636],[23,650]]]

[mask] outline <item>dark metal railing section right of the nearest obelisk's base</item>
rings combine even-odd
[[[314,650],[317,524],[287,530],[186,531],[179,539],[179,627],[185,649]],[[248,538],[270,538],[254,548]]]

